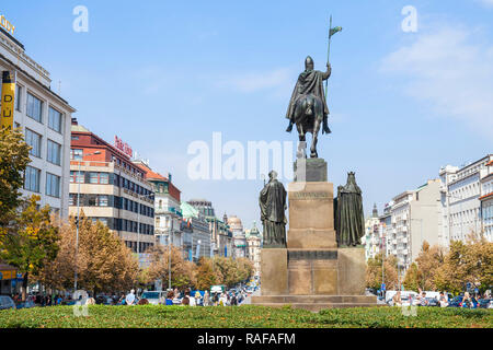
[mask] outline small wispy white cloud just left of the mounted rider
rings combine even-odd
[[[294,83],[291,71],[287,68],[280,68],[267,72],[231,75],[220,80],[219,85],[251,93],[266,89],[282,88],[286,84],[294,85]]]

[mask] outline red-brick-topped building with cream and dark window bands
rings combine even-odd
[[[69,214],[101,221],[135,253],[154,245],[154,192],[130,155],[72,120]]]

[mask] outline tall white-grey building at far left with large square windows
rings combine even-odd
[[[0,31],[0,71],[15,72],[14,127],[32,145],[23,196],[41,196],[61,218],[68,218],[70,125],[76,112],[50,89],[49,72],[28,57],[24,46]]]

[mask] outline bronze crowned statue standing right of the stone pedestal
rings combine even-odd
[[[347,184],[337,187],[337,199],[334,207],[337,245],[360,245],[365,234],[365,219],[362,189],[356,185],[353,172],[347,174]]]

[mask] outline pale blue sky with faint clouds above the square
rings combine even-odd
[[[87,32],[73,30],[78,5]],[[18,0],[0,13],[79,124],[118,136],[172,174],[182,200],[206,198],[246,229],[260,221],[261,174],[193,179],[188,147],[211,149],[213,132],[245,150],[296,141],[286,109],[305,58],[325,70],[331,14],[343,31],[331,44],[332,133],[318,149],[334,188],[355,172],[365,213],[381,212],[440,166],[493,153],[493,0]]]

